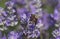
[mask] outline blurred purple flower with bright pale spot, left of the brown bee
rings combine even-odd
[[[26,8],[17,8],[17,14],[21,20],[28,21],[30,17],[30,13],[27,11]]]

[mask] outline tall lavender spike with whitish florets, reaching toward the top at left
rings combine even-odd
[[[6,26],[15,26],[18,24],[18,18],[16,15],[16,10],[14,7],[14,2],[12,1],[8,1],[5,3],[6,4],[6,13],[7,13],[7,17],[6,20],[4,21]]]

